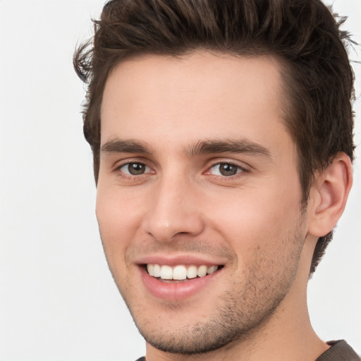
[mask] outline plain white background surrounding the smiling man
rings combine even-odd
[[[328,3],[330,3],[329,1]],[[145,354],[106,266],[94,215],[85,91],[72,68],[102,0],[0,0],[0,360],[135,360]],[[335,0],[361,42],[361,1]],[[361,61],[351,51],[350,58]],[[361,66],[355,64],[356,95]],[[356,142],[361,142],[361,101]],[[361,161],[326,257],[310,281],[324,340],[361,353]],[[302,342],[302,340],[300,340]],[[307,347],[307,345],[305,345]]]

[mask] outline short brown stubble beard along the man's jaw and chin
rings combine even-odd
[[[305,242],[301,235],[304,218],[300,219],[300,228],[291,237],[283,240],[286,247],[292,245],[291,252],[283,257],[258,255],[258,262],[243,274],[243,282],[233,280],[228,291],[213,300],[216,304],[214,312],[205,322],[180,325],[169,330],[163,324],[146,314],[142,317],[128,299],[128,290],[117,283],[123,299],[130,310],[137,329],[145,341],[158,350],[180,355],[209,353],[232,343],[242,343],[262,331],[275,310],[285,298],[292,286],[298,270],[298,262]],[[259,253],[259,250],[256,252]],[[262,252],[262,251],[261,251]],[[270,269],[274,269],[273,272]],[[113,272],[112,272],[113,274]],[[187,312],[181,305],[168,305],[169,311]]]

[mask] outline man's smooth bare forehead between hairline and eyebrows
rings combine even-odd
[[[281,85],[271,56],[197,51],[129,59],[106,81],[102,144],[111,137],[179,142],[285,132]]]

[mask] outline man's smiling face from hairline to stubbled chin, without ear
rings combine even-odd
[[[271,57],[145,56],[109,75],[97,219],[137,327],[202,353],[287,302],[307,233]]]

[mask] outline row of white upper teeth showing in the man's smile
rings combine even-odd
[[[178,265],[176,267],[163,266],[159,264],[147,264],[147,271],[150,276],[161,279],[174,279],[177,281],[183,281],[185,279],[195,279],[195,277],[204,277],[207,274],[213,274],[218,269],[218,266],[205,266],[202,264],[197,267],[194,265],[185,267]]]

